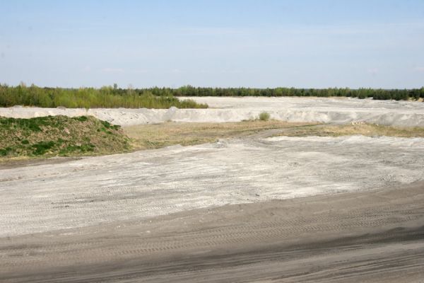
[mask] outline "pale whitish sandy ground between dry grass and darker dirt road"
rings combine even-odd
[[[222,140],[0,170],[0,236],[424,180],[424,139]]]

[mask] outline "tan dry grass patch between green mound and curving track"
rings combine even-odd
[[[132,139],[131,145],[135,149],[157,149],[173,144],[189,146],[224,138],[247,137],[266,129],[288,129],[304,125],[310,125],[310,123],[289,123],[275,120],[229,123],[167,122],[155,125],[136,125],[123,129],[124,133]]]

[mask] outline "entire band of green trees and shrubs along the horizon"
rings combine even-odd
[[[35,85],[7,86],[0,84],[0,107],[29,105],[44,108],[207,108],[194,100],[178,96],[317,96],[373,98],[380,100],[418,100],[424,98],[423,88],[41,88]]]

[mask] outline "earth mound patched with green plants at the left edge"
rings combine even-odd
[[[0,117],[0,158],[84,156],[128,151],[119,126],[95,117]]]

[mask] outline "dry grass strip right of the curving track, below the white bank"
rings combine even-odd
[[[274,136],[289,137],[339,137],[362,134],[367,137],[424,137],[423,127],[392,127],[373,124],[360,125],[310,125],[285,129]]]

